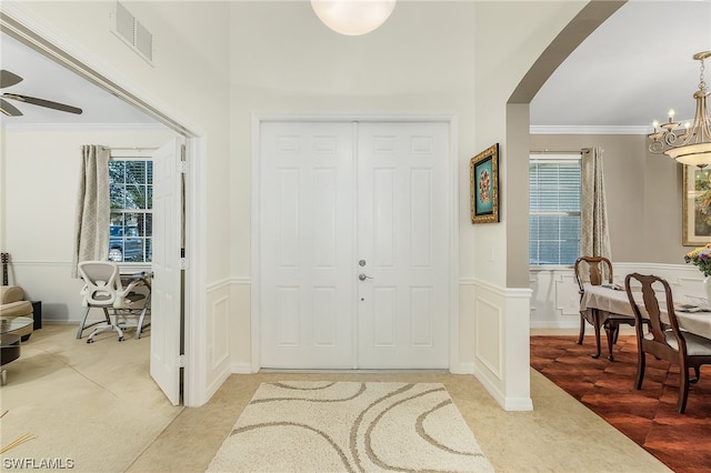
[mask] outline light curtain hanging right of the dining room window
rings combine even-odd
[[[612,260],[601,148],[582,150],[581,193],[580,254],[582,256],[605,256]]]

